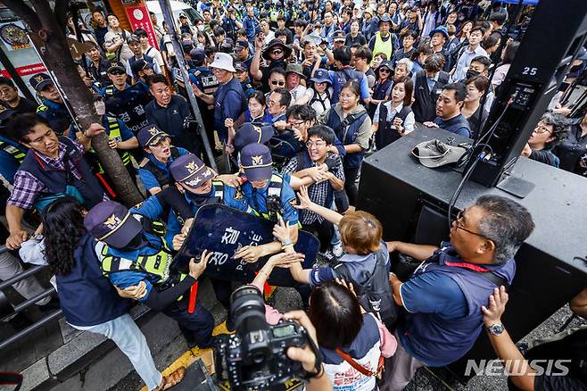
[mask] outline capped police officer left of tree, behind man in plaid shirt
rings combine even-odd
[[[51,129],[58,135],[62,135],[70,129],[71,116],[59,95],[53,80],[46,73],[37,73],[29,80],[30,87],[33,87],[41,102],[37,107],[37,114],[49,122]]]

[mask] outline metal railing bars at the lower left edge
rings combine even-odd
[[[9,250],[8,248],[6,248],[5,245],[0,246],[0,254],[4,254],[7,251]],[[17,282],[20,282],[22,279],[28,279],[29,277],[34,276],[39,271],[45,270],[46,268],[47,266],[33,266],[27,270],[22,271],[21,273],[16,274],[12,278],[0,282],[0,291],[3,291],[7,287],[12,287],[12,285],[16,284]],[[0,321],[9,320],[11,317],[14,316],[14,314],[23,312],[31,305],[36,304],[39,300],[49,295],[54,295],[55,292],[56,290],[54,287],[49,287],[45,289],[43,292],[39,293],[38,295],[35,295],[34,297],[29,298],[28,300],[25,300],[21,304],[13,305],[12,312],[8,313],[7,315],[4,315],[2,319],[0,319]],[[4,350],[4,348],[6,348],[7,346],[12,345],[13,343],[21,340],[21,338],[27,337],[33,331],[44,327],[46,324],[50,323],[53,320],[61,318],[62,315],[63,312],[61,309],[55,310],[54,312],[50,312],[46,314],[43,318],[37,320],[30,326],[26,327],[25,329],[21,329],[20,331],[17,331],[15,334],[13,334],[11,337],[8,337],[3,341],[0,341],[0,352]]]

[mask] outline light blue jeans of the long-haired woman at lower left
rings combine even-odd
[[[127,355],[128,360],[135,367],[136,373],[143,379],[148,389],[151,390],[161,384],[163,377],[155,367],[153,356],[146,344],[145,335],[128,313],[89,328],[71,326],[75,329],[102,334],[104,337],[112,339],[122,353]]]

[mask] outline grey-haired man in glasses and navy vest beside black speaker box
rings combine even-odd
[[[481,196],[459,212],[451,242],[441,248],[387,243],[390,252],[422,264],[403,283],[390,274],[393,300],[406,316],[395,331],[398,349],[386,362],[382,389],[401,390],[419,367],[442,367],[467,354],[483,329],[482,306],[493,289],[511,284],[514,255],[533,229],[524,206],[501,196]]]

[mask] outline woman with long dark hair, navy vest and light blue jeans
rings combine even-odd
[[[127,298],[140,295],[145,287],[129,287],[119,295],[103,277],[95,238],[84,228],[81,205],[70,197],[54,201],[43,213],[43,226],[45,238],[33,245],[31,254],[37,261],[45,259],[54,271],[65,320],[74,329],[112,339],[149,390],[177,384],[186,369],[180,367],[169,377],[161,376],[145,336],[128,315],[131,301]]]

